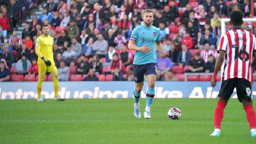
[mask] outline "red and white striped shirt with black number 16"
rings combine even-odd
[[[226,52],[222,80],[242,78],[251,82],[251,61],[255,46],[255,36],[243,29],[230,30],[221,38],[218,52]]]

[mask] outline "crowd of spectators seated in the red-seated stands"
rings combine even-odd
[[[237,9],[245,17],[251,16],[251,0],[47,2],[41,15],[25,22],[26,13],[37,6],[37,0],[0,0],[0,37],[4,42],[0,81],[16,81],[15,77],[23,80],[23,76],[24,80],[37,79],[35,40],[46,24],[54,38],[54,61],[60,81],[132,81],[135,51],[129,50],[127,44],[132,30],[143,23],[142,15],[147,8],[153,10],[153,26],[160,30],[161,43],[170,53],[166,59],[157,54],[157,80],[184,80],[184,72],[214,71],[221,18],[228,18]],[[256,3],[253,7],[256,16]],[[25,22],[21,37],[14,30],[19,21]],[[50,75],[46,77],[51,79]]]

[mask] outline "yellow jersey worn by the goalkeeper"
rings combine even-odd
[[[44,57],[46,60],[49,60],[54,64],[53,60],[53,42],[54,39],[48,35],[48,37],[41,35],[37,38],[35,43],[35,53],[38,56],[37,64],[42,64],[44,61],[41,57]]]

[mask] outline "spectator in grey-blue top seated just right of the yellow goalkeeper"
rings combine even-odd
[[[65,66],[64,61],[60,61],[60,68],[58,68],[59,81],[68,81],[69,67]]]

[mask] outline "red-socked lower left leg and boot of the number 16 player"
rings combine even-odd
[[[219,97],[219,101],[217,103],[217,106],[215,108],[214,112],[214,132],[210,136],[220,136],[221,135],[221,121],[223,118],[224,109],[227,105],[226,102],[220,101],[222,97]]]

